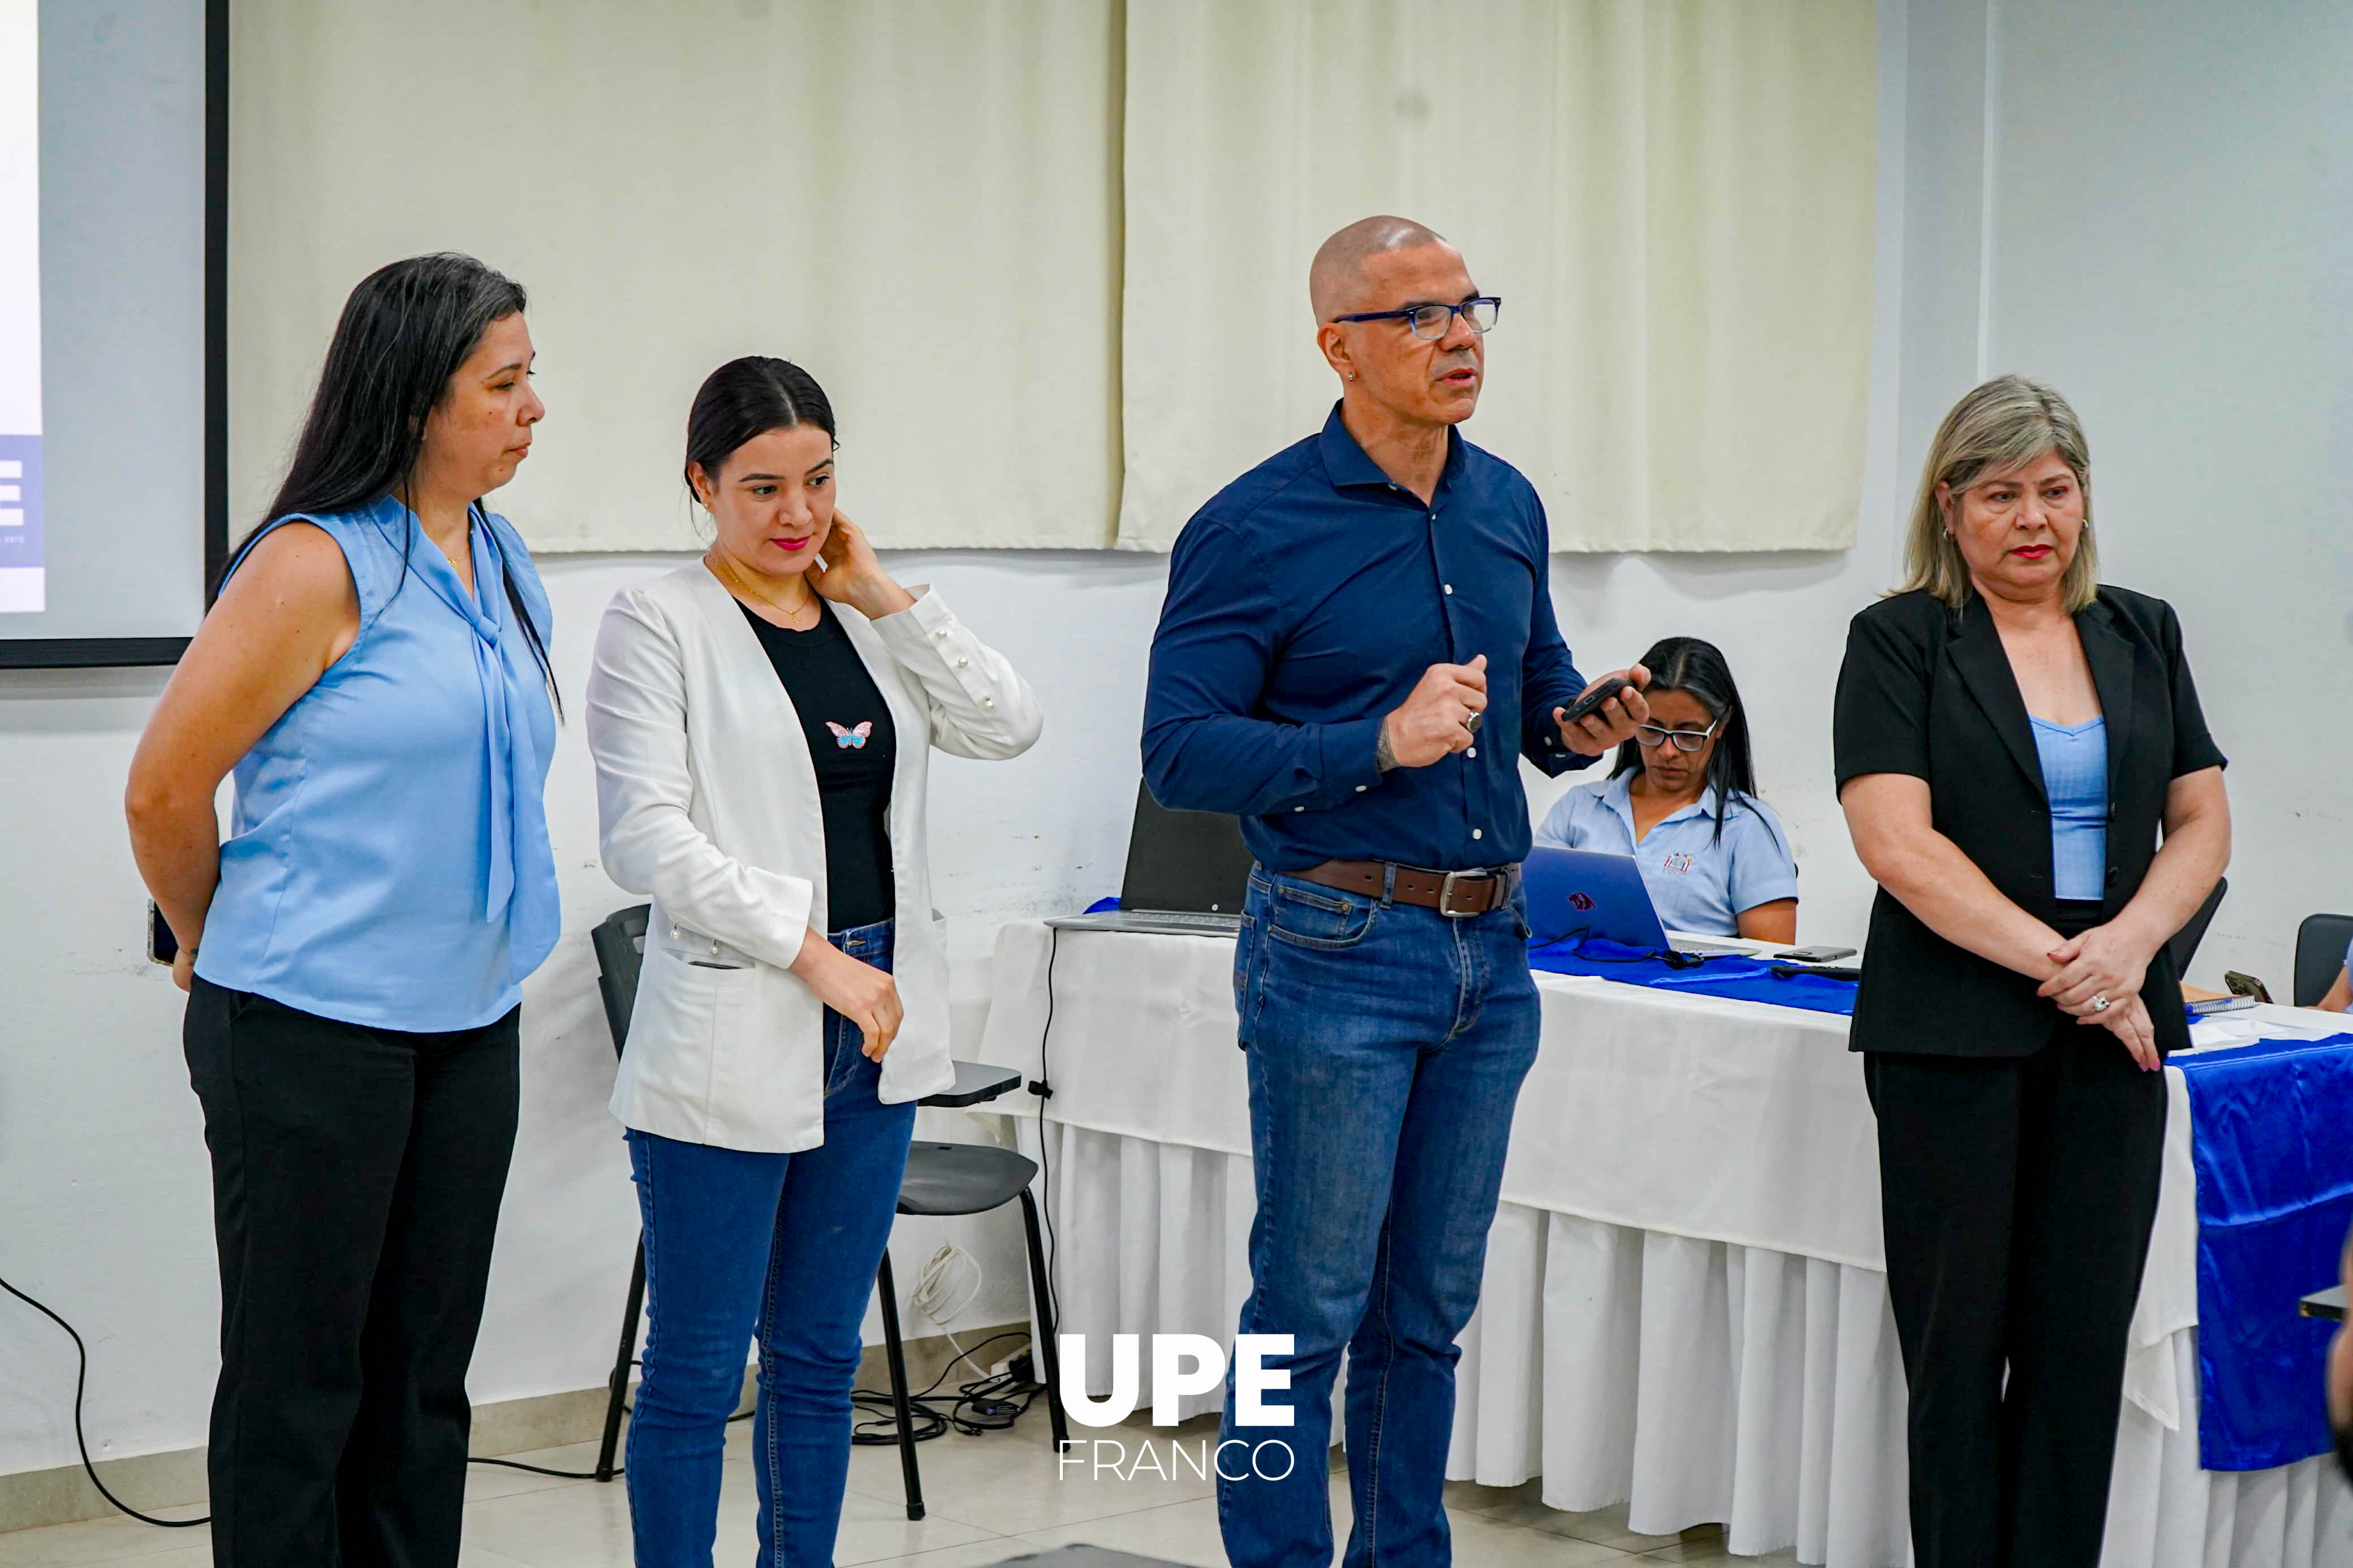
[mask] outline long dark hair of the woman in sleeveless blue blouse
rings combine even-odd
[[[449,376],[473,355],[492,322],[522,306],[520,282],[454,252],[409,256],[362,277],[334,324],[327,364],[318,374],[318,393],[311,395],[278,498],[228,557],[221,581],[228,581],[254,541],[280,517],[348,512],[393,491],[405,494],[424,454],[426,421],[449,388]],[[409,531],[400,541],[402,588],[414,548],[416,515],[409,512]],[[522,639],[548,679],[548,696],[562,712],[546,637],[522,609],[513,571],[499,576]]]

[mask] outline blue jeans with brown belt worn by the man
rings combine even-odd
[[[1454,1335],[1478,1305],[1537,983],[1518,903],[1468,919],[1249,877],[1235,947],[1259,1215],[1240,1333],[1287,1333],[1289,1427],[1226,1385],[1217,1514],[1233,1568],[1332,1561],[1332,1380],[1348,1352],[1346,1568],[1452,1559]],[[1289,1472],[1278,1448],[1289,1446]],[[1249,1455],[1261,1453],[1257,1469]],[[1242,1479],[1231,1479],[1240,1474]],[[1278,1479],[1264,1479],[1278,1476]]]

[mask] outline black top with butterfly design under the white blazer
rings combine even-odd
[[[739,602],[741,607],[741,602]],[[744,609],[793,698],[816,762],[816,797],[826,818],[826,924],[871,926],[894,912],[889,872],[889,776],[899,733],[875,677],[849,632],[819,599],[816,625],[788,632]]]

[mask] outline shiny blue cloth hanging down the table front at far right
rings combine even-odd
[[[2353,1034],[2177,1056],[2198,1171],[2198,1462],[2273,1469],[2329,1450],[2329,1324],[2353,1218]]]

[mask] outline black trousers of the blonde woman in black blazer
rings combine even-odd
[[[1918,1568],[2097,1568],[2165,1074],[2057,1016],[2024,1058],[1864,1056]],[[2007,1382],[2005,1382],[2007,1373]]]

